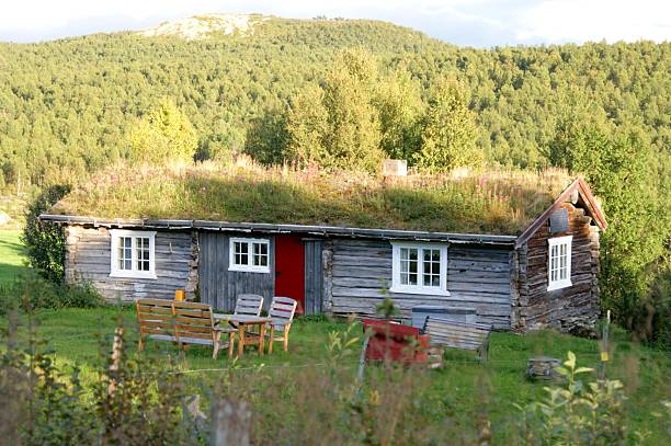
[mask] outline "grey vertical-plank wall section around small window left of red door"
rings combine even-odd
[[[223,311],[232,311],[238,295],[257,294],[263,296],[263,306],[268,309],[275,289],[274,238],[263,237],[270,239],[270,273],[248,273],[228,271],[230,237],[249,237],[249,233],[198,233],[201,301]]]

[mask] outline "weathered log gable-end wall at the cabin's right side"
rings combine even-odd
[[[599,317],[599,228],[584,209],[570,203],[566,232],[550,233],[549,222],[516,251],[519,263],[513,299],[513,328],[530,331],[551,327],[576,334],[589,333]],[[573,236],[570,287],[547,290],[548,239]]]

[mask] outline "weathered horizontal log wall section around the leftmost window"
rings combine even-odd
[[[105,228],[66,228],[66,281],[88,281],[106,299],[173,299],[175,289],[194,297],[197,244],[192,232],[158,231],[155,239],[156,279],[110,277],[111,237]]]

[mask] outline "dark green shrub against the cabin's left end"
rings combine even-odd
[[[45,278],[60,283],[65,276],[65,232],[56,224],[41,221],[39,215],[62,198],[70,186],[56,185],[42,192],[29,206],[21,241],[31,266]]]

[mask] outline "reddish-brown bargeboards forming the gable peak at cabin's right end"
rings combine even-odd
[[[548,207],[538,218],[536,218],[530,226],[520,235],[518,240],[515,241],[515,248],[521,247],[526,243],[528,239],[536,233],[538,228],[547,221],[550,214],[557,210],[561,205],[566,202],[571,202],[573,204],[580,204],[582,207],[587,209],[590,217],[594,219],[596,225],[601,229],[606,229],[609,224],[605,220],[605,214],[601,209],[599,202],[592,194],[592,190],[590,185],[582,179],[578,178],[576,181],[571,183],[559,197],[553,203],[550,207]]]

